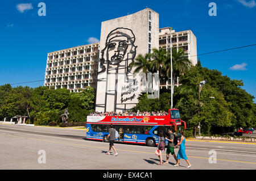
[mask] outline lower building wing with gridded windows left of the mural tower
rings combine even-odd
[[[79,92],[96,88],[99,43],[48,53],[44,86]]]

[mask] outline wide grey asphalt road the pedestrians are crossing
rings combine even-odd
[[[114,157],[113,151],[106,155],[108,143],[86,140],[85,136],[85,130],[73,128],[0,124],[0,169],[187,169],[187,163],[182,159],[180,167],[174,167],[172,157],[169,164],[159,166],[159,158],[154,154],[156,148],[144,145],[115,144],[119,155]],[[191,169],[256,169],[255,143],[187,140],[185,146]],[[177,151],[175,149],[175,153]],[[210,163],[209,157],[213,157],[213,153],[216,157]],[[163,158],[165,161],[165,153]],[[46,163],[39,163],[42,161]]]

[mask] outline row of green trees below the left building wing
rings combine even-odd
[[[69,109],[69,121],[86,121],[86,116],[94,108],[94,89],[86,87],[73,93],[67,89],[48,89],[47,87],[0,86],[0,119],[14,116],[28,116],[28,123],[47,125],[60,124],[60,115]]]

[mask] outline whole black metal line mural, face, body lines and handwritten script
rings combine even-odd
[[[106,92],[105,92],[105,108],[106,108],[106,99],[108,96],[108,82],[113,80],[108,80],[109,71],[115,70],[115,97],[114,97],[114,110],[116,110],[117,104],[117,83],[118,83],[118,73],[119,70],[124,69],[126,74],[126,81],[129,81],[128,74],[131,73],[131,68],[129,65],[131,62],[134,62],[136,56],[135,46],[135,35],[132,30],[129,28],[115,28],[112,30],[106,37],[105,47],[100,52],[100,66],[98,68],[98,74],[106,72]],[[123,74],[123,71],[122,71]],[[133,80],[134,82],[134,80]],[[125,85],[125,83],[123,83]],[[129,84],[131,85],[131,84]],[[138,89],[138,88],[137,88]],[[120,90],[123,91],[124,89]],[[132,92],[123,92],[121,94],[122,98],[120,99],[121,104],[127,100],[132,100],[135,98],[135,94],[132,94],[130,98],[123,98],[123,95],[131,94]]]

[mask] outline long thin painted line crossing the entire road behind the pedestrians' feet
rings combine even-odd
[[[60,141],[50,141],[50,140],[42,140],[42,139],[37,139],[37,138],[28,138],[28,137],[22,137],[22,136],[13,136],[13,135],[6,135],[6,134],[0,134],[1,136],[9,136],[9,137],[16,137],[16,138],[24,138],[27,140],[37,140],[37,141],[46,141],[46,142],[54,142],[58,144],[64,144],[64,145],[74,145],[74,146],[84,146],[84,147],[90,147],[90,148],[101,148],[101,149],[106,149],[105,147],[101,146],[89,146],[89,145],[80,145],[80,144],[70,144],[67,142],[60,142]],[[119,151],[129,151],[129,152],[135,152],[135,153],[150,153],[150,154],[155,154],[152,152],[147,152],[147,151],[136,151],[136,150],[125,150],[125,149],[117,149]],[[165,154],[165,153],[164,153]],[[200,159],[209,159],[205,157],[193,157],[189,156],[189,158],[200,158]],[[243,162],[243,161],[234,161],[234,160],[229,160],[229,159],[216,159],[218,161],[226,161],[226,162],[239,162],[239,163],[250,163],[256,165],[254,162]]]

